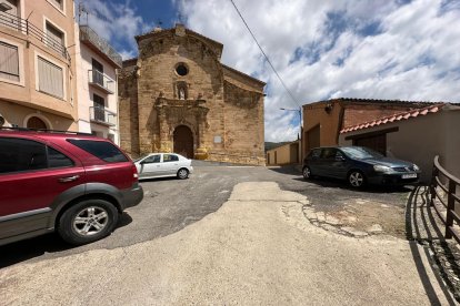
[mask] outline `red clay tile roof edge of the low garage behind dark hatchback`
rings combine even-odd
[[[378,126],[378,125],[382,125],[382,124],[387,124],[387,123],[391,123],[391,122],[396,122],[396,121],[402,121],[402,120],[409,120],[412,118],[417,118],[417,116],[421,116],[421,115],[427,115],[430,113],[437,113],[439,112],[443,106],[446,105],[446,103],[436,103],[433,105],[423,108],[423,109],[416,109],[416,110],[411,110],[408,112],[401,112],[401,113],[397,113],[393,115],[389,115],[389,116],[384,116],[384,118],[380,118],[380,119],[376,119],[372,121],[368,121],[364,123],[360,123],[353,126],[349,126],[343,130],[340,131],[340,133],[348,133],[348,132],[353,132],[353,131],[358,131],[358,130],[362,130],[362,129],[367,129],[367,128],[372,128],[372,126]]]

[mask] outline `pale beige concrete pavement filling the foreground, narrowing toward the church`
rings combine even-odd
[[[171,235],[6,267],[1,302],[454,305],[423,246],[323,231],[306,218],[309,205],[307,196],[276,182],[239,183],[218,211]]]

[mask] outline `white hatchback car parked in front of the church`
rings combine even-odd
[[[176,153],[151,153],[134,161],[139,180],[177,176],[180,180],[193,173],[191,160]]]

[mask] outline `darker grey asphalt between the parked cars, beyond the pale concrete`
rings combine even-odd
[[[0,246],[0,267],[21,262],[37,262],[83,253],[113,249],[176,233],[218,211],[229,198],[233,186],[242,182],[276,182],[281,190],[307,195],[323,211],[338,208],[343,200],[372,198],[389,205],[404,205],[408,190],[368,188],[356,191],[342,182],[316,180],[306,182],[294,167],[234,166],[193,162],[189,180],[157,178],[143,181],[144,200],[128,210],[109,237],[79,247],[63,243],[56,234]]]

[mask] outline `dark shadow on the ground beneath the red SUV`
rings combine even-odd
[[[117,224],[118,228],[127,226],[132,222],[128,213],[123,213]],[[0,268],[8,267],[20,262],[32,259],[44,253],[56,253],[76,248],[62,241],[57,233],[41,235],[30,239],[19,241],[16,243],[0,246]]]

